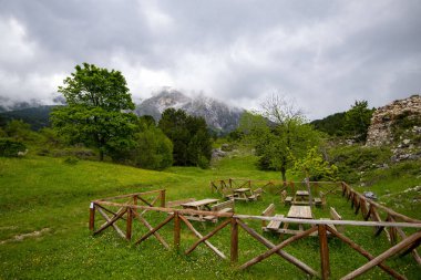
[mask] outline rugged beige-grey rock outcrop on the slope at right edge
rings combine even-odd
[[[421,96],[418,94],[379,107],[371,117],[366,145],[381,146],[394,144],[397,141],[400,141],[402,135],[399,134],[404,133],[404,129],[417,134],[420,132],[419,127],[421,127],[420,120]]]

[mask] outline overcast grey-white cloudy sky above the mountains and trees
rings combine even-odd
[[[48,103],[76,64],[309,118],[421,93],[421,1],[0,0],[0,96]]]

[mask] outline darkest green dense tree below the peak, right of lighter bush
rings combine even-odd
[[[203,117],[189,116],[182,110],[167,108],[162,114],[158,127],[173,142],[175,165],[208,165],[206,162],[210,160],[212,139]]]

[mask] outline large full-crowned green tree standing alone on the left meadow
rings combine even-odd
[[[104,154],[119,154],[134,145],[136,116],[126,81],[120,71],[93,64],[75,66],[75,72],[59,86],[68,105],[54,108],[51,121],[60,135],[70,143],[94,146]]]

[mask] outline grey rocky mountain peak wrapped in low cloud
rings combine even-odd
[[[218,134],[226,134],[237,128],[244,112],[242,108],[228,106],[205,95],[188,97],[179,91],[165,87],[137,105],[135,114],[151,115],[158,121],[161,114],[170,107],[181,108],[189,115],[203,116],[207,125]]]

